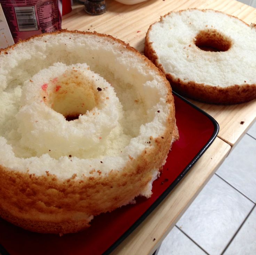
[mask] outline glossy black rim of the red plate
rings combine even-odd
[[[191,105],[193,108],[197,109],[199,112],[203,113],[206,117],[208,117],[214,125],[214,132],[211,135],[208,142],[203,146],[203,148],[199,151],[197,155],[190,161],[190,163],[186,166],[186,168],[181,172],[181,174],[174,180],[174,182],[159,196],[159,198],[147,209],[145,213],[143,213],[135,222],[134,224],[126,230],[104,253],[103,255],[110,254],[119,244],[122,243],[146,218],[150,215],[150,213],[165,199],[165,197],[174,189],[174,187],[183,179],[186,173],[191,169],[191,167],[198,161],[198,159],[205,153],[205,151],[209,148],[209,146],[213,143],[214,139],[217,137],[219,132],[219,124],[218,122],[211,117],[208,113],[203,111],[202,109],[198,108],[190,101],[186,100],[181,95],[177,94],[173,91],[173,94],[182,99],[185,103]],[[9,255],[6,249],[0,244],[0,254],[1,255]]]

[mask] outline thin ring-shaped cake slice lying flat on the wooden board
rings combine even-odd
[[[217,104],[256,98],[256,29],[214,10],[170,12],[150,26],[145,56],[185,96]]]

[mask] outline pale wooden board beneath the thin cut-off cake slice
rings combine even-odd
[[[63,17],[62,28],[110,34],[143,53],[147,29],[169,11],[210,8],[236,16],[248,24],[256,23],[256,9],[235,0],[148,0],[136,5],[106,0],[106,5],[107,12],[99,16],[87,14],[82,4],[74,5],[72,12]],[[218,137],[231,146],[256,120],[256,100],[231,106],[192,102],[217,120],[220,126]]]

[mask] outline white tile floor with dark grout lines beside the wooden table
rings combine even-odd
[[[256,254],[256,123],[163,240],[158,255]]]

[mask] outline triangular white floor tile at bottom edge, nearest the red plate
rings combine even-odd
[[[163,240],[158,255],[206,255],[177,227]]]

